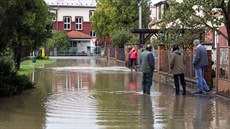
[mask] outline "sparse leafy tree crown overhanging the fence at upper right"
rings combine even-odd
[[[217,31],[228,40],[230,46],[229,0],[168,0],[167,3],[169,9],[165,12],[163,20],[165,28],[174,30],[173,33],[175,30],[189,30],[190,36],[179,33],[179,36],[188,41],[198,36],[201,38],[200,35],[204,34],[204,31]],[[222,23],[227,29],[227,35],[218,29]]]

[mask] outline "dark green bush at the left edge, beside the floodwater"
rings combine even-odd
[[[33,87],[34,84],[28,76],[17,74],[9,58],[0,58],[0,97],[20,94]]]

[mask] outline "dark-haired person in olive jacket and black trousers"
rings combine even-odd
[[[179,46],[177,44],[173,44],[172,49],[173,53],[170,59],[170,68],[172,69],[176,95],[180,94],[179,77],[183,88],[182,95],[186,95],[186,83],[184,79],[184,55],[180,51]]]

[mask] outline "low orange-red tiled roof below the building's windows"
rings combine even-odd
[[[87,35],[80,31],[70,31],[67,33],[67,36],[71,39],[91,39],[90,35]]]

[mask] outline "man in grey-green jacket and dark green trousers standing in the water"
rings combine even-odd
[[[142,76],[142,88],[143,93],[150,94],[150,88],[152,86],[153,72],[155,69],[155,61],[152,54],[152,46],[147,45],[145,51],[141,53],[141,70]]]

